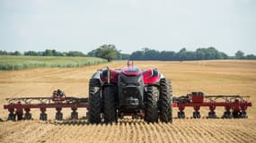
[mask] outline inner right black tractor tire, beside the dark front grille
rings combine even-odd
[[[145,92],[145,121],[158,122],[159,90],[155,86],[148,86]]]

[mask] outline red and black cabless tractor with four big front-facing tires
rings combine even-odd
[[[156,69],[140,70],[128,62],[120,69],[96,71],[89,85],[91,123],[117,122],[124,115],[146,122],[172,122],[172,86]]]

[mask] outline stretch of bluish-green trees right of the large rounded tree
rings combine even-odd
[[[133,52],[129,59],[132,60],[160,60],[160,61],[191,61],[191,60],[215,60],[215,59],[256,59],[255,55],[244,55],[242,51],[237,51],[234,56],[219,52],[215,47],[201,47],[196,51],[188,51],[181,48],[179,52],[157,51],[151,48],[143,48]]]

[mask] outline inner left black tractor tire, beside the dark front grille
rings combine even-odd
[[[116,109],[116,96],[117,86],[105,87],[103,90],[104,95],[104,122],[116,122],[117,121],[117,109]]]

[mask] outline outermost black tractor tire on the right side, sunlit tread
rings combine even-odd
[[[160,80],[159,115],[161,122],[172,122],[171,80]]]

